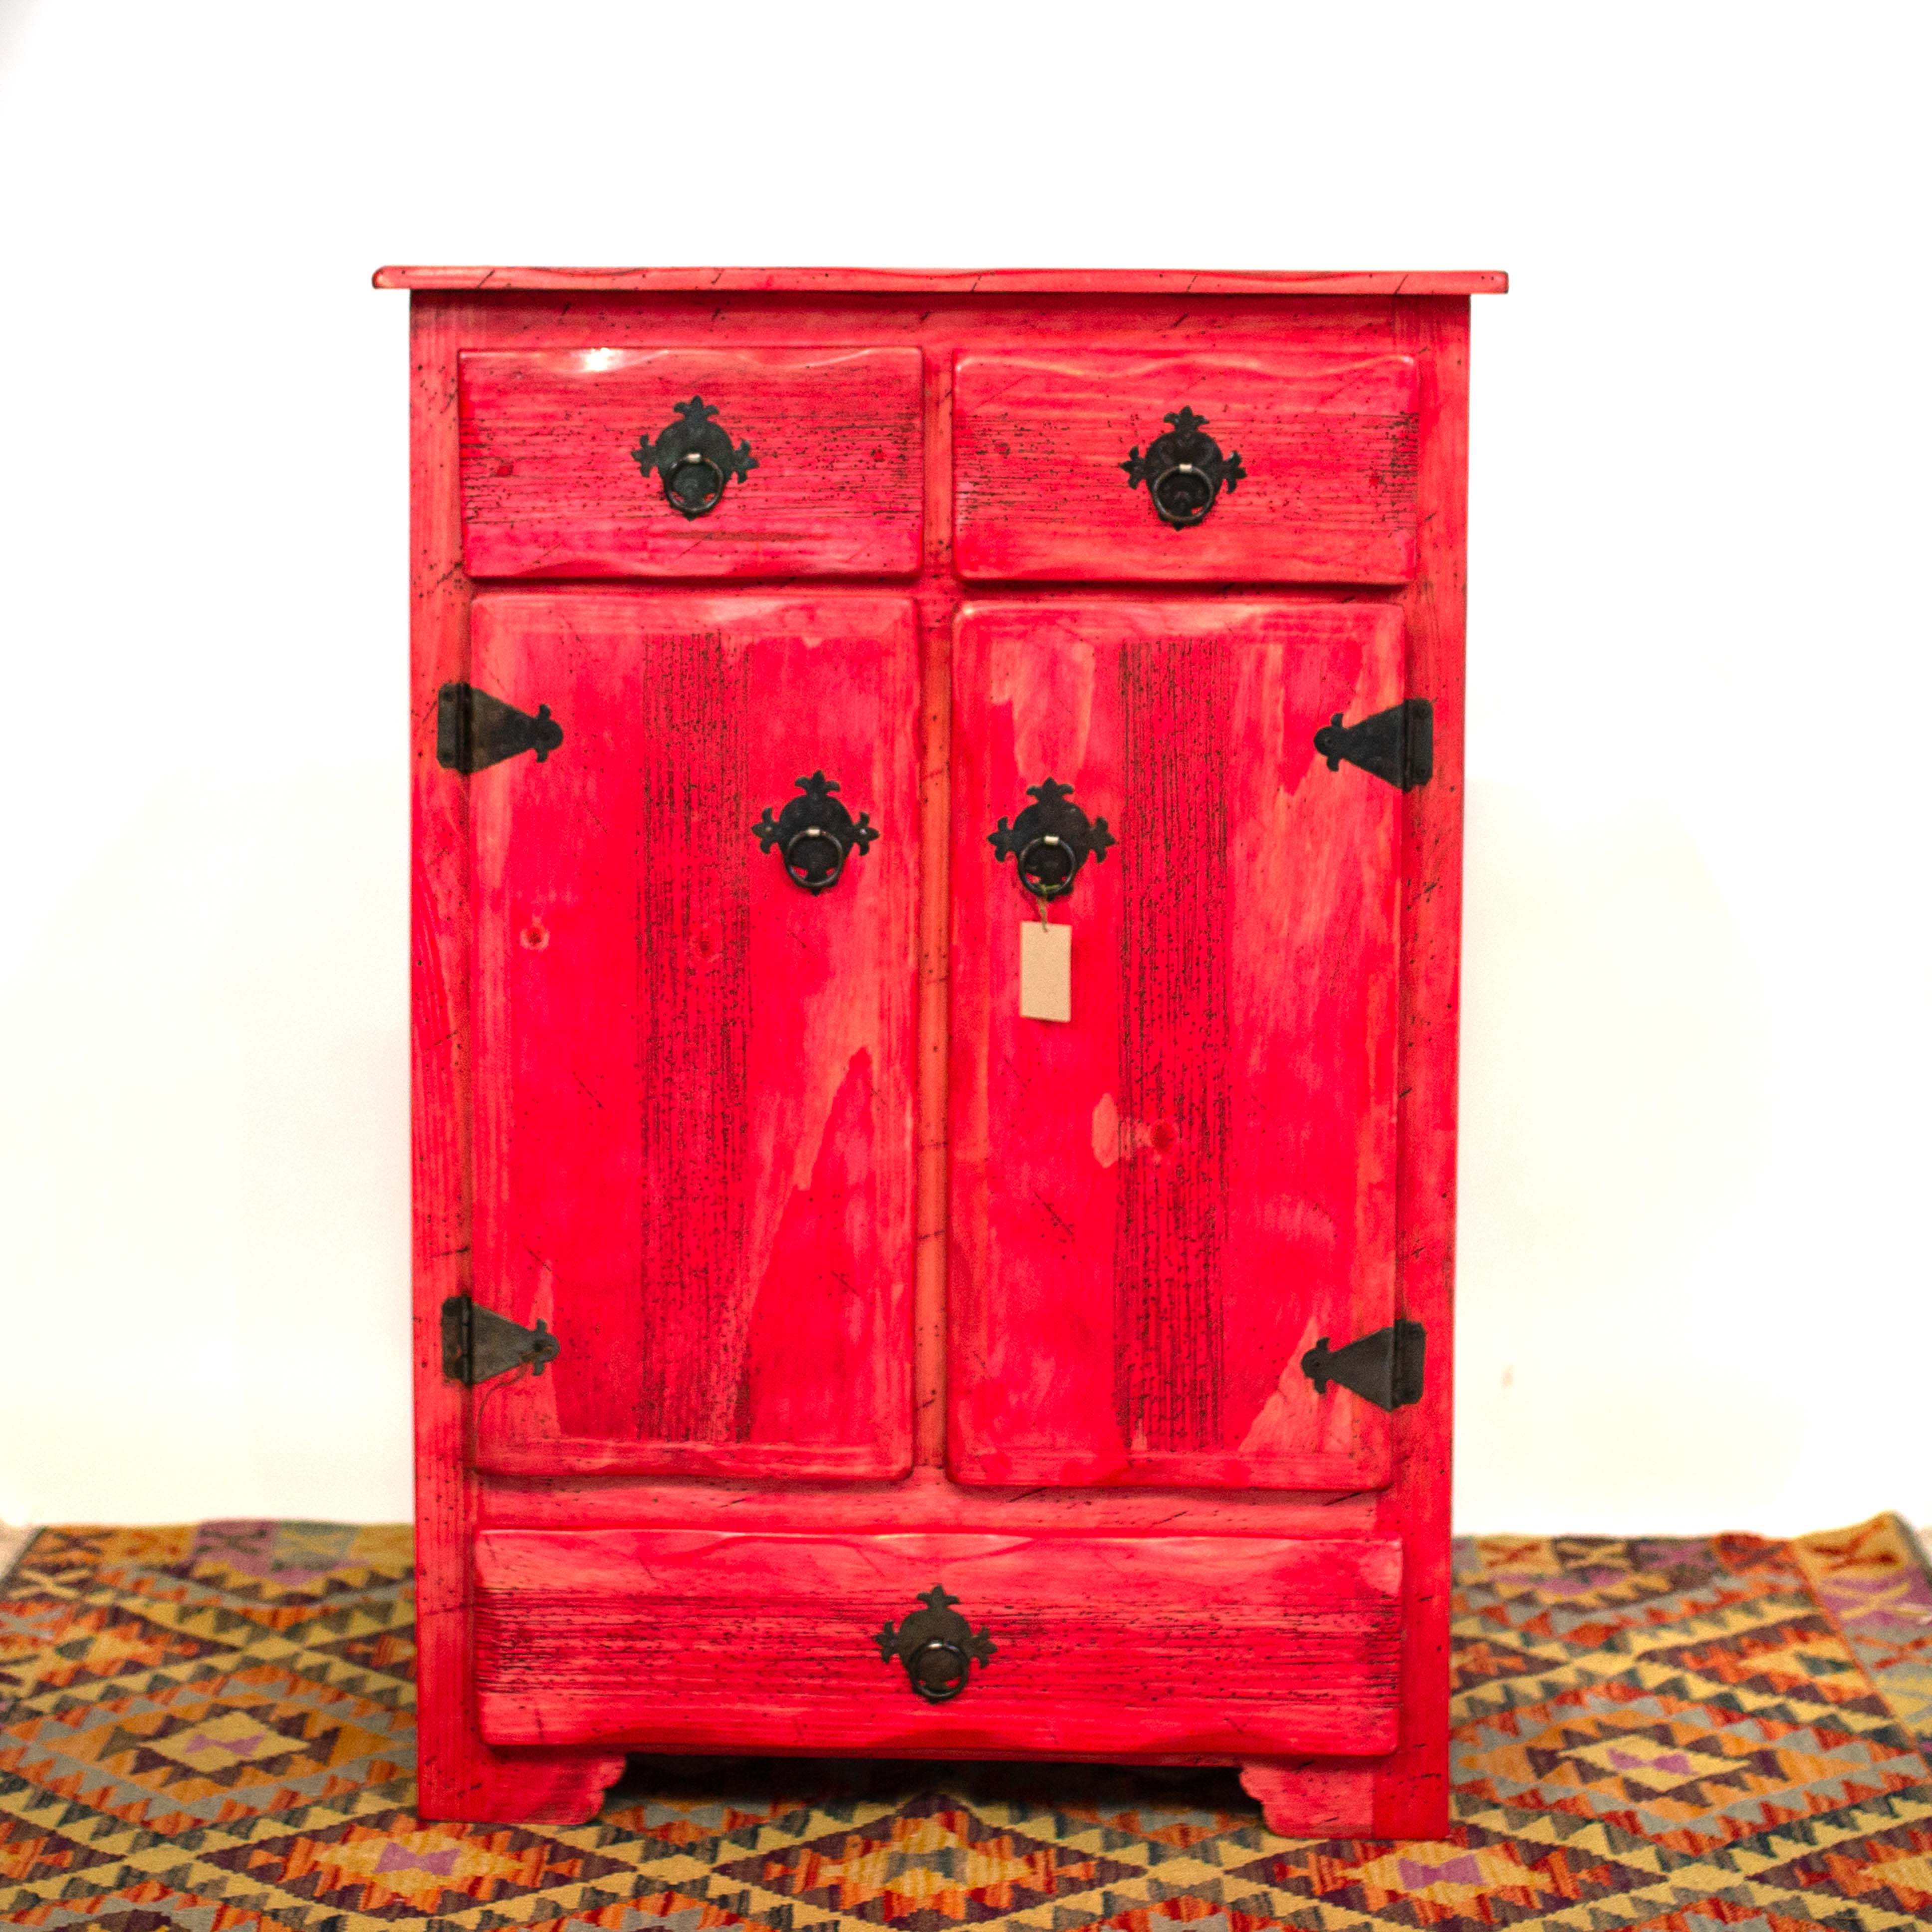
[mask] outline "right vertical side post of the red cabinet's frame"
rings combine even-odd
[[[1435,705],[1435,773],[1403,815],[1397,1310],[1428,1329],[1422,1401],[1399,1408],[1381,1522],[1405,1544],[1403,1745],[1376,1772],[1376,1833],[1449,1820],[1449,1474],[1455,1372],[1457,997],[1463,935],[1463,628],[1468,301],[1397,303],[1422,367],[1422,564],[1405,597],[1408,690]]]

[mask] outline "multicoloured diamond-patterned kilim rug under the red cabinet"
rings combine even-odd
[[[410,1532],[44,1530],[0,1588],[0,1924],[1932,1922],[1905,1528],[1464,1542],[1455,1816],[1306,1843],[1231,1772],[634,1760],[570,1832],[412,1812]]]

